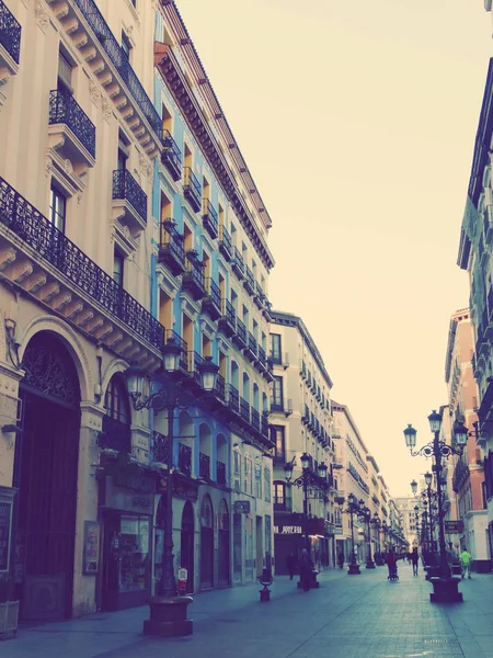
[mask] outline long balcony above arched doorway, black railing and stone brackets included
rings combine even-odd
[[[2,178],[0,271],[118,356],[161,363],[164,327]]]

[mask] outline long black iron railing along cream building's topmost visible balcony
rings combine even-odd
[[[136,72],[131,68],[128,57],[113,36],[113,32],[110,30],[102,13],[98,9],[96,3],[94,0],[74,0],[74,2],[91,25],[98,41],[112,60],[114,67],[137,102],[137,105],[140,107],[144,116],[147,118],[154,133],[159,135],[161,133],[161,117],[156,111],[152,101],[147,95]]]

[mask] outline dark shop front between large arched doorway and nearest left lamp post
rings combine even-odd
[[[156,477],[127,455],[105,465],[100,488],[102,610],[142,605],[150,597]]]

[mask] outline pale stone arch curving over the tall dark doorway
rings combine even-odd
[[[79,334],[67,325],[67,322],[64,322],[64,320],[54,316],[39,316],[32,320],[22,334],[21,347],[19,350],[21,362],[30,340],[41,331],[48,331],[61,338],[69,354],[73,359],[73,364],[79,377],[81,401],[93,401],[94,379],[88,354],[82,345]]]

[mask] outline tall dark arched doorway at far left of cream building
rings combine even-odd
[[[49,331],[31,339],[23,368],[13,475],[15,593],[24,620],[64,619],[72,612],[79,378],[64,342]]]

